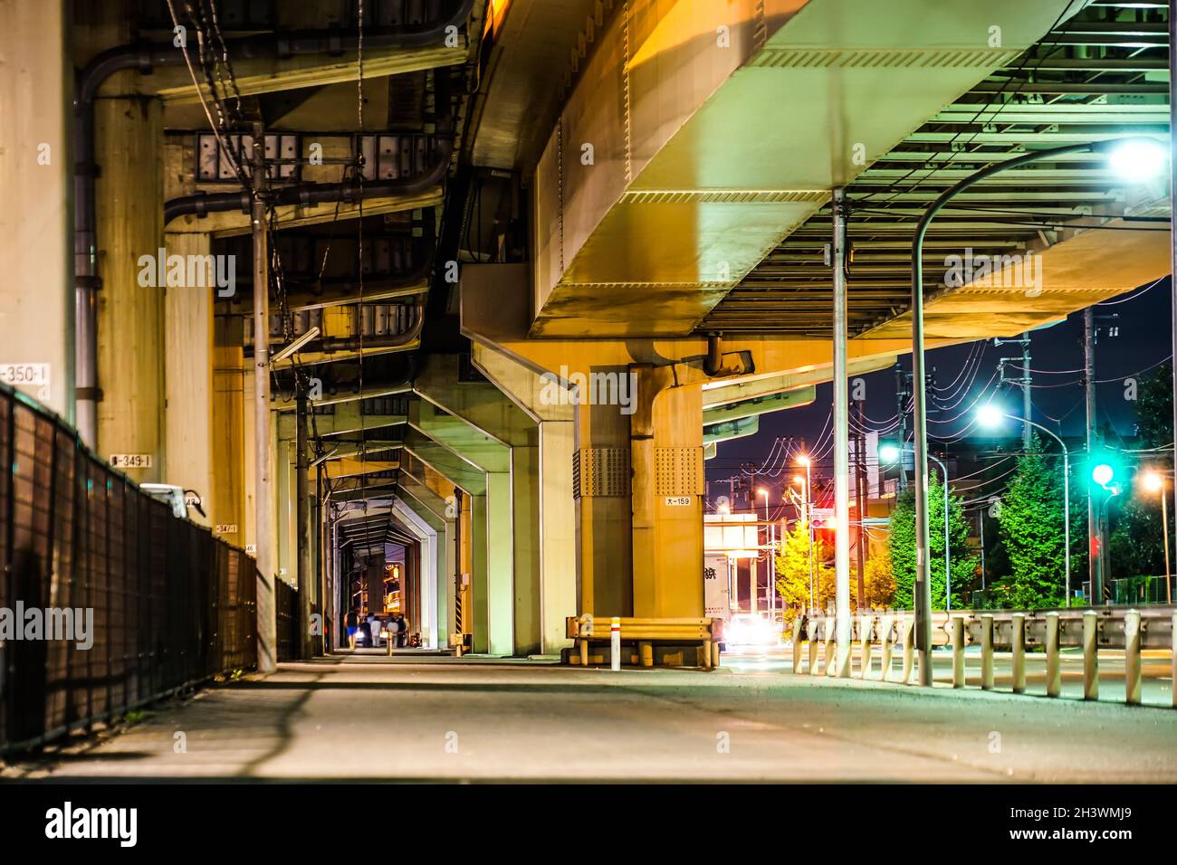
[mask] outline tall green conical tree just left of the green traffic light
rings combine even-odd
[[[1018,458],[997,519],[1012,572],[1002,580],[1004,601],[1015,608],[1060,606],[1065,561],[1063,480],[1057,460],[1043,453],[1037,433]]]

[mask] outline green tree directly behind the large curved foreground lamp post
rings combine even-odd
[[[929,577],[932,608],[944,610],[944,485],[937,472],[927,478]],[[891,538],[887,541],[895,579],[895,606],[915,607],[916,586],[916,490],[907,487],[896,499],[891,512]],[[977,557],[969,547],[969,523],[960,497],[949,493],[949,567],[952,578],[952,606],[967,606],[967,597],[977,574]]]

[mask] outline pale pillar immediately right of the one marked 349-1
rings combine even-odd
[[[165,234],[168,254],[205,257],[210,254],[207,234]],[[205,513],[213,514],[214,424],[214,327],[213,290],[207,287],[169,287],[164,290],[164,415],[165,451],[168,484],[194,490],[205,503]],[[202,525],[210,519],[195,511],[189,517]]]

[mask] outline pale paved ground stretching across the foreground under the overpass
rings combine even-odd
[[[1177,711],[726,663],[713,673],[405,656],[284,664],[0,777],[1177,781]]]

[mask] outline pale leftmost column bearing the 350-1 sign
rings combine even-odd
[[[0,380],[74,419],[71,207],[73,68],[67,4],[0,4]],[[9,364],[20,367],[9,370]],[[24,372],[21,372],[24,370]]]

